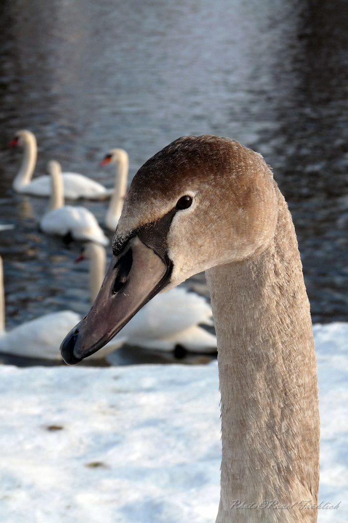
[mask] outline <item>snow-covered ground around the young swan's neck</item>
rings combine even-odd
[[[320,510],[348,522],[348,326],[314,327]],[[0,366],[0,521],[214,523],[221,459],[216,362]]]

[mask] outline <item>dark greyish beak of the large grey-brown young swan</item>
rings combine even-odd
[[[91,310],[65,337],[61,354],[75,365],[106,345],[136,312],[163,289],[171,274],[170,261],[161,259],[138,236],[111,259]]]

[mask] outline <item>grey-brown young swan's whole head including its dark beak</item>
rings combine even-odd
[[[275,184],[259,154],[214,136],[169,144],[132,180],[111,264],[91,311],[62,344],[65,361],[93,354],[158,292],[261,252],[276,218]]]

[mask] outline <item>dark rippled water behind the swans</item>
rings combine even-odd
[[[314,322],[348,321],[348,2],[2,0],[0,232],[6,325],[88,310],[87,262],[38,230],[45,199],[11,190],[6,143],[33,131],[36,173],[59,160],[107,186],[184,134],[260,152],[293,214]],[[84,202],[103,220],[105,202]],[[109,235],[111,237],[111,235]],[[188,285],[206,293],[204,278]]]

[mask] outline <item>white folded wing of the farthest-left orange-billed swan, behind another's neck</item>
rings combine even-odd
[[[64,196],[72,200],[77,198],[100,199],[109,196],[107,189],[97,181],[78,173],[62,173]]]

